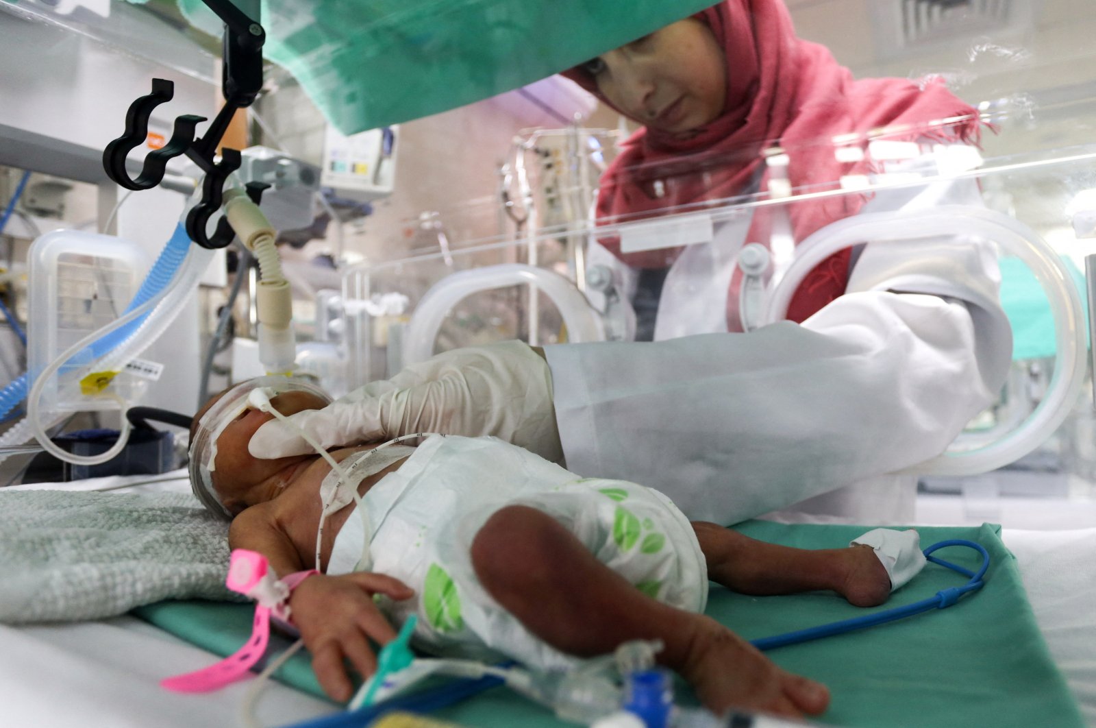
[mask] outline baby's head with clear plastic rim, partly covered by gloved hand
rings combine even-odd
[[[191,424],[190,476],[194,494],[209,511],[231,520],[258,502],[270,500],[271,478],[308,458],[308,455],[259,459],[248,452],[255,431],[274,419],[249,403],[255,389],[264,389],[282,414],[322,409],[331,398],[319,387],[297,377],[265,376],[229,387],[215,395]],[[283,484],[285,485],[285,484]]]

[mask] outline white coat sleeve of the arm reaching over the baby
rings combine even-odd
[[[850,294],[752,333],[548,346],[568,468],[733,523],[940,453],[992,399],[962,304]]]

